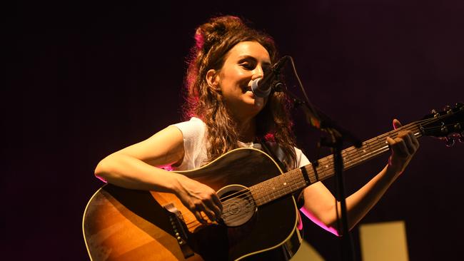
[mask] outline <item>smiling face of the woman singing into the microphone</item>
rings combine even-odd
[[[256,41],[240,42],[226,54],[226,61],[214,80],[221,88],[226,105],[238,120],[253,118],[265,105],[263,99],[255,99],[251,83],[262,78],[270,68],[268,51]]]

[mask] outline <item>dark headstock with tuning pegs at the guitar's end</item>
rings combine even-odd
[[[433,136],[446,140],[448,147],[454,145],[455,140],[464,142],[464,103],[456,103],[454,108],[446,106],[443,111],[435,110],[423,118],[419,123],[422,135]]]

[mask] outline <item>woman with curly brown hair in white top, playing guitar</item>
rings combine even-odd
[[[309,164],[295,148],[291,120],[283,93],[263,101],[251,92],[276,62],[271,37],[249,28],[241,19],[221,16],[196,30],[186,86],[185,111],[189,121],[159,131],[147,140],[123,148],[101,160],[95,175],[123,188],[175,194],[200,222],[221,217],[216,191],[176,172],[191,170],[240,147],[268,150],[288,170]],[[400,126],[393,121],[395,128]],[[352,228],[378,202],[385,190],[408,165],[419,143],[413,133],[387,138],[392,154],[385,168],[346,199],[348,226]],[[308,218],[336,235],[339,216],[335,198],[321,183],[301,193],[301,208]]]

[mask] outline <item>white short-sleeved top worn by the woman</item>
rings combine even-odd
[[[183,135],[183,160],[181,165],[176,167],[173,166],[173,170],[193,170],[199,168],[206,163],[208,157],[206,151],[208,148],[208,138],[206,137],[206,124],[199,118],[191,118],[190,121],[184,121],[182,123],[173,124]],[[240,143],[243,147],[261,149],[259,143]],[[283,150],[276,144],[269,144],[270,149],[278,157],[279,160],[283,160]],[[295,148],[296,163],[299,167],[308,165],[310,162],[306,155],[304,155],[300,149]]]

